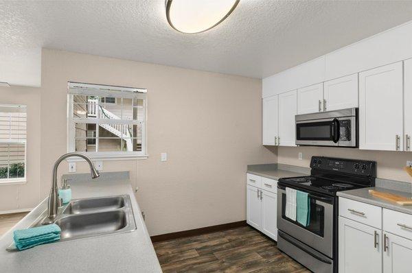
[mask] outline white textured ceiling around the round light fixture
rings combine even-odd
[[[0,65],[47,47],[264,78],[412,20],[412,1],[241,0],[201,34],[172,29],[164,0],[0,1],[0,14]]]

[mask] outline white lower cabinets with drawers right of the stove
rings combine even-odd
[[[345,198],[339,198],[339,206],[342,200],[360,215],[370,211],[365,211],[364,203]],[[382,219],[379,228],[364,224],[374,221],[348,219],[339,207],[339,272],[412,272],[412,215],[374,207],[380,209],[380,215],[369,217]]]

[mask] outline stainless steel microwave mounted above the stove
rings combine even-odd
[[[296,145],[358,147],[358,108],[296,115]]]

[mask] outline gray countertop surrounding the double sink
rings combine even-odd
[[[0,239],[1,272],[161,272],[129,180],[71,183],[73,199],[130,195],[137,229],[130,233],[60,241],[7,252],[12,231],[27,228],[45,211],[47,198]]]

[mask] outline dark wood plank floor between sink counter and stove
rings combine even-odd
[[[154,244],[163,272],[310,272],[249,226]]]

